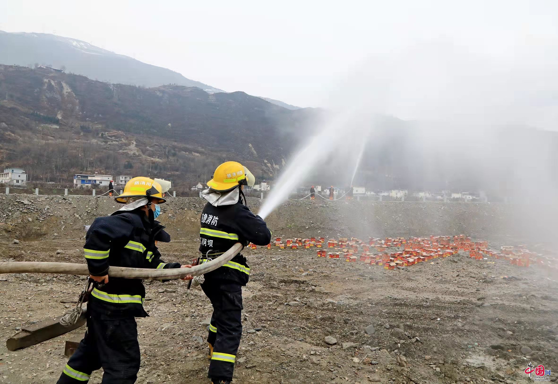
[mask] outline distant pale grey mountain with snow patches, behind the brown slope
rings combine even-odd
[[[185,78],[170,69],[142,63],[85,41],[47,33],[0,31],[0,64],[65,66],[66,71],[109,83],[158,87],[178,84],[206,92],[222,92],[210,85]]]

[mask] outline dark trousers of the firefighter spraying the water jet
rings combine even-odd
[[[213,305],[208,343],[213,345],[208,377],[233,380],[234,362],[242,336],[242,286],[237,283],[208,282],[201,285]]]

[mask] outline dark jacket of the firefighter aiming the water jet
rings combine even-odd
[[[214,207],[211,203],[205,204],[200,222],[201,262],[206,255],[210,258],[222,255],[235,243],[264,246],[271,241],[271,231],[266,222],[242,204],[240,198],[231,205]],[[249,274],[246,258],[239,253],[222,267],[205,273],[204,277],[206,284],[212,280],[224,280],[246,285]]]

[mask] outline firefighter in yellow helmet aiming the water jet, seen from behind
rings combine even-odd
[[[254,176],[242,164],[227,161],[219,165],[202,196],[207,200],[200,218],[200,262],[222,255],[235,243],[267,245],[271,231],[266,222],[246,206],[243,186],[254,185]],[[208,377],[213,384],[229,384],[242,323],[242,286],[250,268],[240,253],[231,261],[201,278],[201,288],[213,305],[208,327],[210,359]]]

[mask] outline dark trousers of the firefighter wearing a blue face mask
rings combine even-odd
[[[133,317],[87,319],[85,337],[70,357],[58,384],[84,383],[103,367],[103,384],[132,384],[140,370],[140,344]]]

